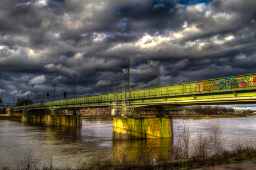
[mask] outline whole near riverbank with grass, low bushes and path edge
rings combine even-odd
[[[243,152],[243,153],[231,153],[224,154],[221,156],[215,157],[204,157],[204,158],[193,158],[193,159],[178,159],[178,160],[168,160],[161,159],[157,161],[145,161],[146,159],[141,159],[137,161],[129,161],[127,157],[122,157],[120,161],[117,162],[115,158],[102,159],[100,155],[95,156],[89,162],[84,162],[78,164],[77,167],[46,167],[41,165],[42,160],[33,160],[30,156],[35,156],[33,153],[33,148],[30,154],[27,154],[24,157],[23,168],[17,166],[13,170],[28,170],[28,169],[37,169],[37,170],[85,170],[85,169],[159,169],[159,170],[171,170],[171,169],[212,169],[212,168],[233,168],[233,169],[255,169],[256,167],[256,152]],[[127,160],[126,160],[127,159]],[[144,161],[143,161],[144,160]],[[31,161],[31,162],[29,162]],[[253,162],[253,163],[251,163]],[[51,163],[48,163],[51,165]],[[255,165],[254,165],[255,164]],[[40,165],[40,166],[39,166]],[[224,166],[225,165],[225,166]],[[237,166],[234,167],[233,165]],[[29,168],[30,167],[30,168]],[[33,168],[32,168],[33,167]],[[2,170],[12,170],[9,167],[2,167]]]

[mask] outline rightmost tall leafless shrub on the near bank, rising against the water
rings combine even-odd
[[[211,153],[213,156],[221,155],[225,150],[224,146],[226,139],[224,138],[223,131],[221,130],[219,123],[216,123],[215,121],[211,123],[209,137]]]

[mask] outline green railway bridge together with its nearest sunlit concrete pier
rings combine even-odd
[[[124,86],[122,91],[117,92],[114,88],[114,92],[110,94],[42,102],[14,107],[13,110],[51,110],[51,115],[54,116],[57,109],[72,109],[76,111],[86,107],[113,107],[112,115],[132,115],[136,113],[136,108],[149,107],[150,109],[155,109],[156,113],[159,114],[157,110],[170,107],[255,104],[255,101],[256,74],[248,74],[130,91],[127,91]],[[51,122],[51,125],[56,125],[56,122],[57,125],[60,125],[65,119],[50,119],[48,122]],[[79,119],[74,120],[81,121]],[[114,119],[113,138],[127,140],[170,137],[173,136],[172,126],[172,119],[165,118],[163,120],[155,118],[152,121],[129,118]],[[159,127],[161,127],[160,130]],[[157,131],[157,134],[154,133],[154,130]]]

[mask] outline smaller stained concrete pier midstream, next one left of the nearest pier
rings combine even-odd
[[[45,126],[81,126],[82,115],[46,115]]]

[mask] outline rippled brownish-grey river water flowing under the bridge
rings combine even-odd
[[[256,116],[186,121],[189,121],[190,132],[195,137],[200,127],[207,133],[214,120],[220,123],[227,143],[232,143],[239,137],[256,140]],[[177,133],[178,125],[183,126],[183,121],[173,120],[174,133]],[[0,166],[21,166],[29,148],[35,149],[36,156],[39,156],[45,166],[52,163],[55,167],[76,167],[97,154],[102,157],[110,156],[111,148],[131,146],[136,151],[147,142],[152,142],[152,145],[159,148],[159,157],[165,157],[175,142],[175,137],[113,141],[112,123],[113,121],[82,120],[82,126],[79,127],[45,127],[44,123],[0,120]]]

